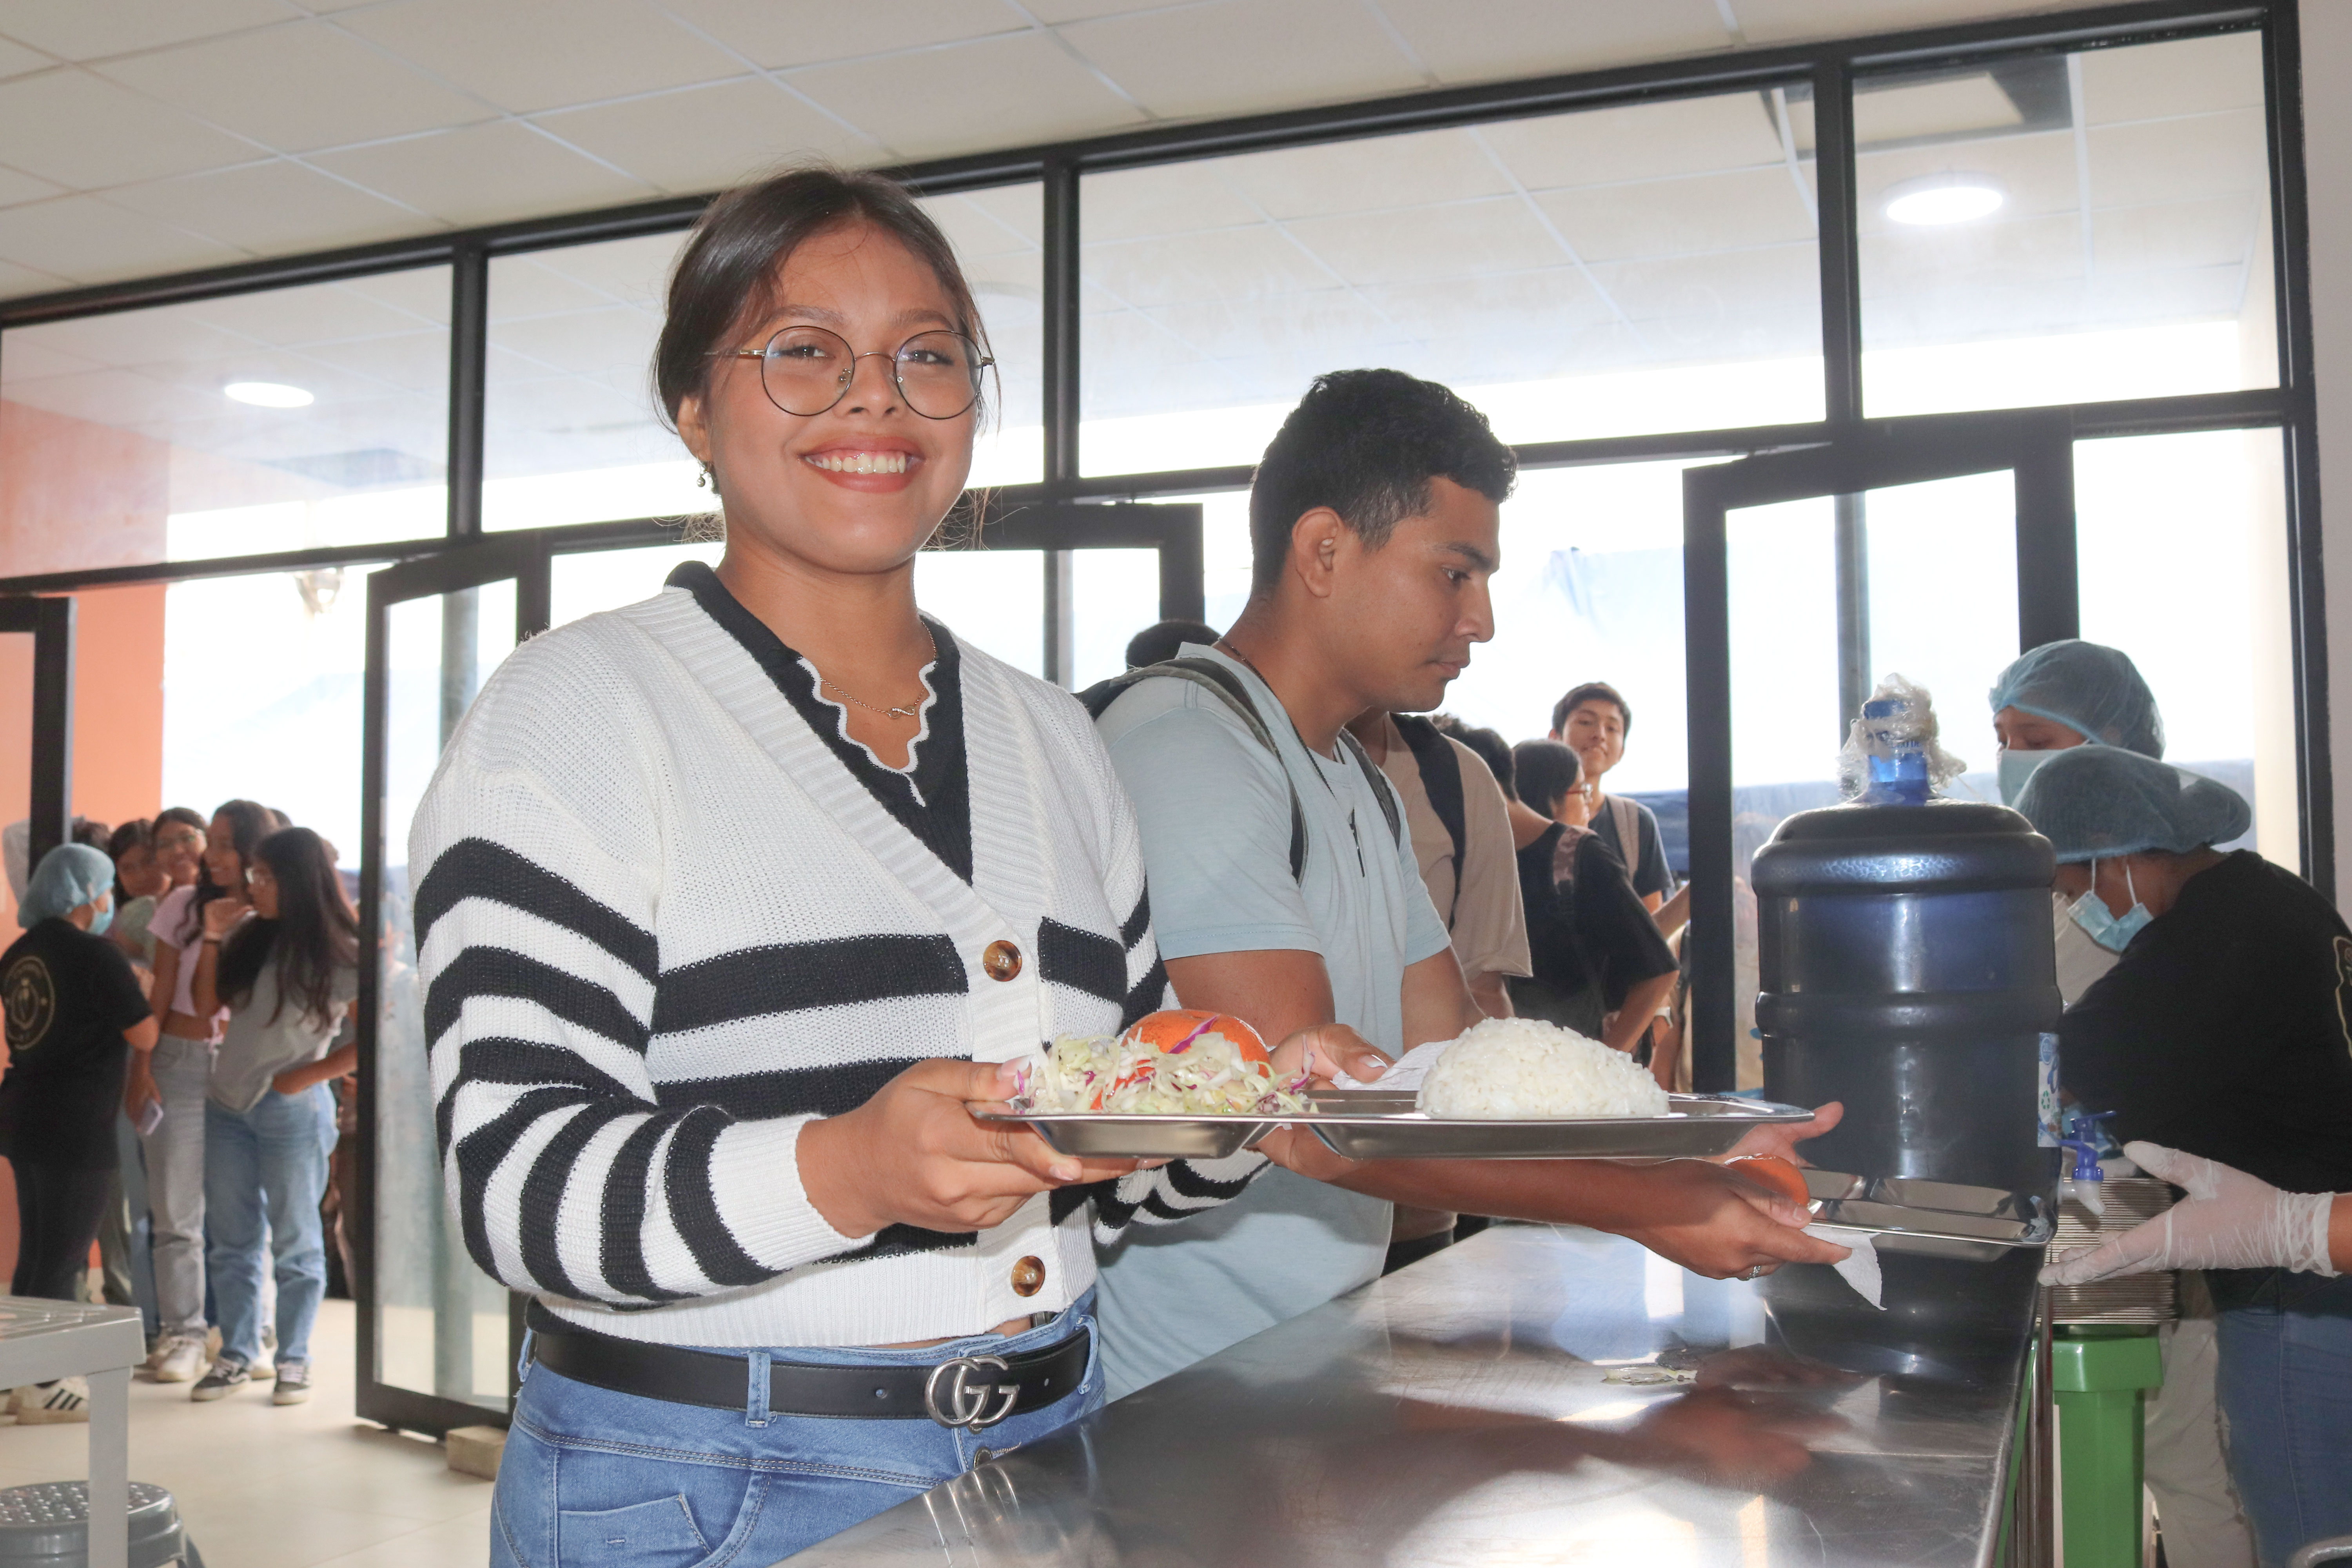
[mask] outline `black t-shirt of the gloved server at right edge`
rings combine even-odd
[[[2352,931],[2241,849],[2190,877],[2058,1025],[2082,1110],[2288,1192],[2352,1192]]]

